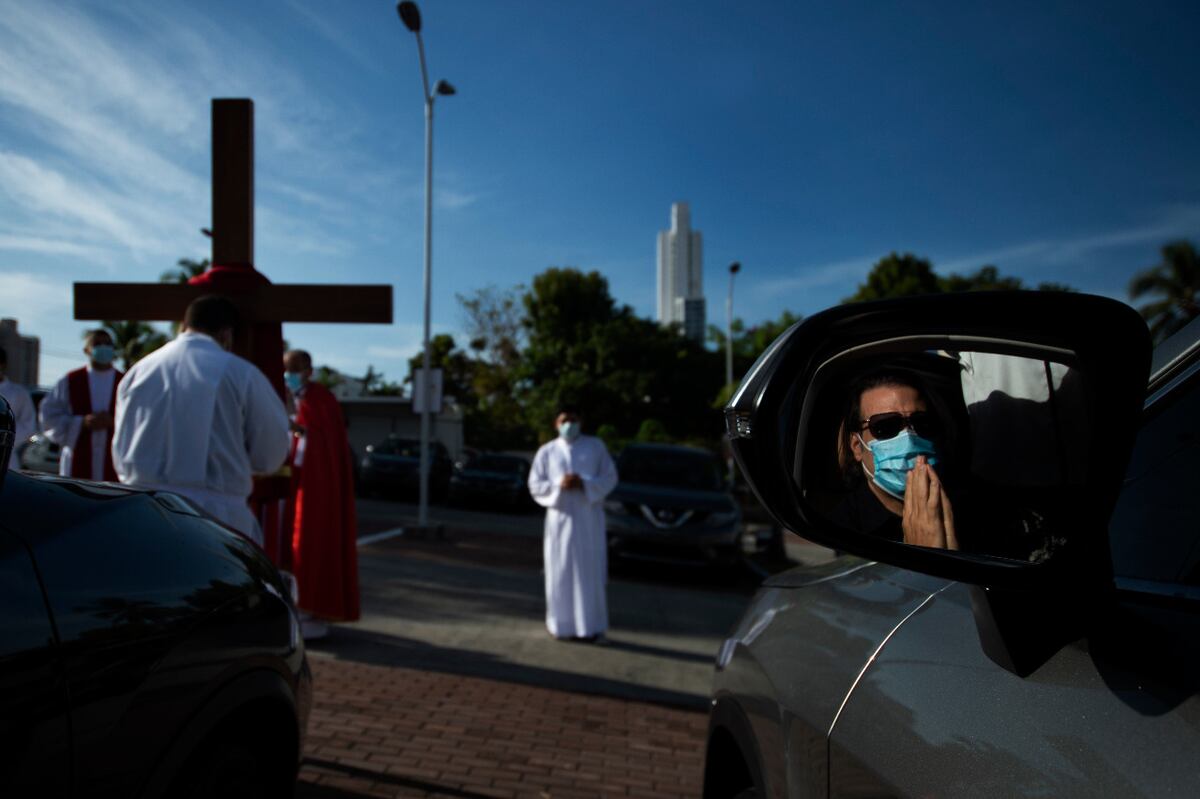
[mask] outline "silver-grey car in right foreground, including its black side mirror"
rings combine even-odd
[[[971,402],[964,372],[958,468],[1009,455],[1045,476],[994,481],[991,513],[956,519],[959,551],[838,523],[823,473],[845,431],[822,405],[846,370],[962,349],[1044,366],[1046,390]],[[1133,310],[1075,294],[844,306],[785,332],[726,408],[736,457],[781,524],[852,554],[767,581],[721,647],[704,797],[1194,794],[1200,320],[1150,366]],[[1009,451],[976,451],[989,439]],[[1030,531],[1004,517],[1056,543],[1021,557],[979,535]]]

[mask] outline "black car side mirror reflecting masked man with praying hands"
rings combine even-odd
[[[839,306],[763,353],[726,427],[762,505],[820,543],[1000,588],[1104,578],[1150,355],[1098,296]]]

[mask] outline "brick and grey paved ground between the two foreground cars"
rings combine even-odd
[[[310,644],[298,797],[698,795],[712,662],[752,570],[618,564],[610,644],[563,643],[538,515],[433,507],[439,535],[414,536],[410,505],[359,512],[362,618]]]

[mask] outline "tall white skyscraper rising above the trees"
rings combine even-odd
[[[704,340],[703,257],[700,230],[691,229],[686,203],[671,206],[671,229],[659,232],[659,323],[683,324],[684,335]]]

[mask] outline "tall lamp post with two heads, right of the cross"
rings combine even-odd
[[[421,495],[416,523],[421,528],[430,524],[430,292],[433,282],[433,98],[455,94],[454,86],[438,80],[430,91],[430,76],[425,68],[425,43],[421,41],[421,12],[415,2],[397,4],[404,28],[416,36],[416,52],[421,59],[421,86],[425,91],[425,331],[421,343]]]

